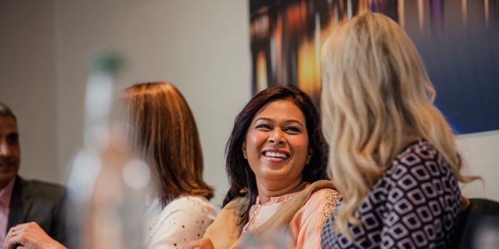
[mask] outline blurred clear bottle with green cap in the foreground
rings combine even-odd
[[[148,166],[134,159],[123,127],[110,118],[113,74],[122,60],[100,53],[91,63],[85,98],[84,146],[68,182],[81,228],[81,248],[140,248],[141,215],[150,180]]]

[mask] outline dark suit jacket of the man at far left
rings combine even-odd
[[[68,246],[66,189],[41,181],[26,181],[16,176],[12,190],[7,231],[20,223],[34,221],[51,238]]]

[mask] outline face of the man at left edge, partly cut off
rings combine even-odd
[[[9,115],[0,115],[0,189],[16,177],[20,159],[16,121]]]

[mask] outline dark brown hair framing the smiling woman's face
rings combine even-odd
[[[227,205],[237,196],[247,195],[248,203],[244,207],[241,216],[241,223],[245,224],[248,218],[249,208],[256,201],[258,190],[253,171],[249,167],[247,159],[242,153],[242,144],[245,142],[249,124],[254,115],[269,102],[276,100],[292,100],[300,110],[302,110],[307,124],[309,134],[309,147],[312,149],[312,158],[309,164],[303,169],[304,181],[314,182],[321,179],[328,179],[326,174],[327,145],[320,127],[320,116],[317,108],[307,93],[302,92],[292,85],[277,86],[267,88],[255,95],[237,115],[234,128],[230,134],[225,147],[226,168],[229,175],[230,189],[225,196],[223,206]],[[245,194],[242,194],[242,193]]]

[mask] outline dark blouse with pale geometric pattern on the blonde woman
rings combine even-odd
[[[339,203],[341,208],[341,201]],[[322,248],[446,248],[461,214],[461,191],[446,161],[425,140],[393,160],[356,211],[351,241],[334,231],[334,214],[321,234]]]

